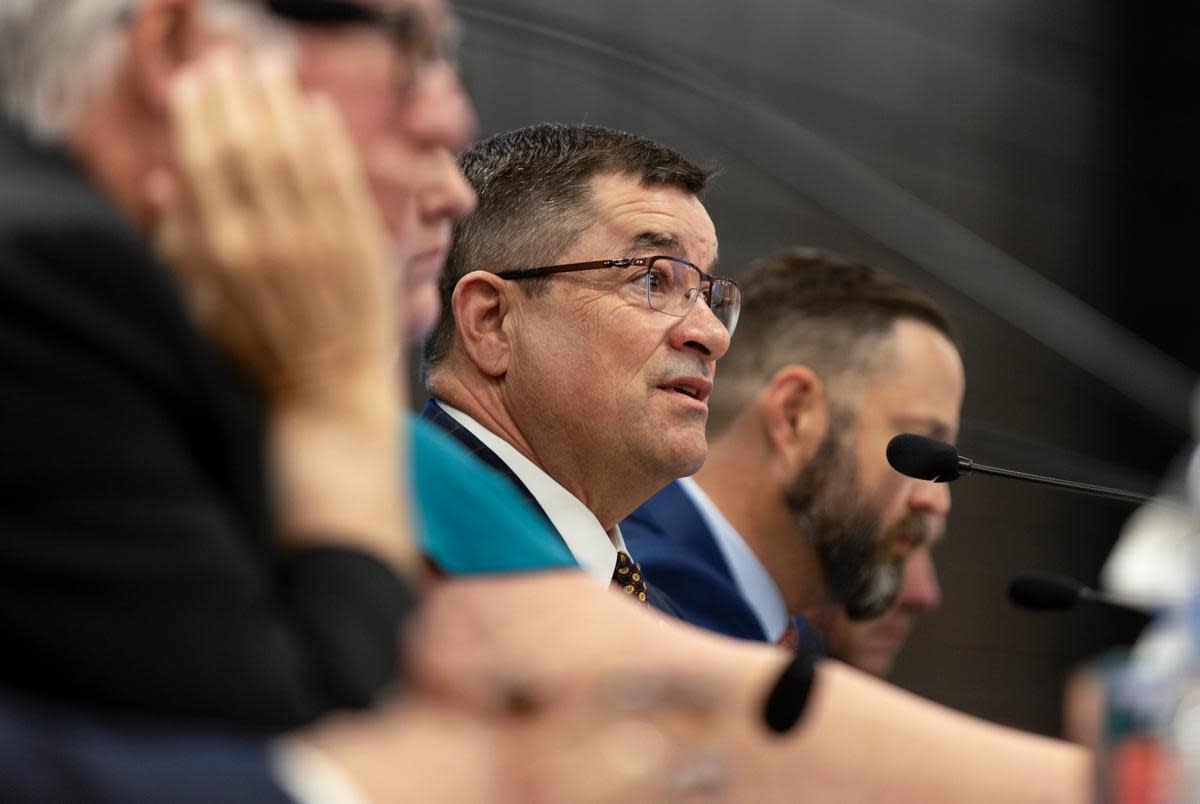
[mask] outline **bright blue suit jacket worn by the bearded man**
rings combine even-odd
[[[682,619],[726,636],[768,641],[713,532],[678,481],[630,514],[620,533],[646,577],[671,596]],[[794,622],[800,646],[822,653],[820,638],[804,618]]]

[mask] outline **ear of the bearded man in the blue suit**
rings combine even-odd
[[[758,392],[757,408],[770,451],[785,469],[794,472],[806,463],[829,425],[824,385],[816,372],[784,366]]]

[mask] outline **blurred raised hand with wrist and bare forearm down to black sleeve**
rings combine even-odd
[[[286,547],[410,570],[389,246],[334,104],[232,52],[172,92],[178,170],[160,242],[202,328],[269,406]]]

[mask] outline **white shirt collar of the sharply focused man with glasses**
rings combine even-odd
[[[604,584],[612,582],[612,572],[617,566],[617,551],[625,550],[620,528],[606,532],[595,515],[575,494],[566,491],[557,480],[546,474],[536,463],[522,455],[515,446],[479,424],[468,414],[446,404],[442,400],[437,406],[451,419],[467,428],[492,450],[529,490],[538,505],[546,512],[551,524],[566,542],[568,550],[578,562],[580,568]]]

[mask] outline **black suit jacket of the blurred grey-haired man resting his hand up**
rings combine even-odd
[[[77,166],[0,125],[0,683],[281,727],[365,706],[403,586],[271,528],[258,396]]]

